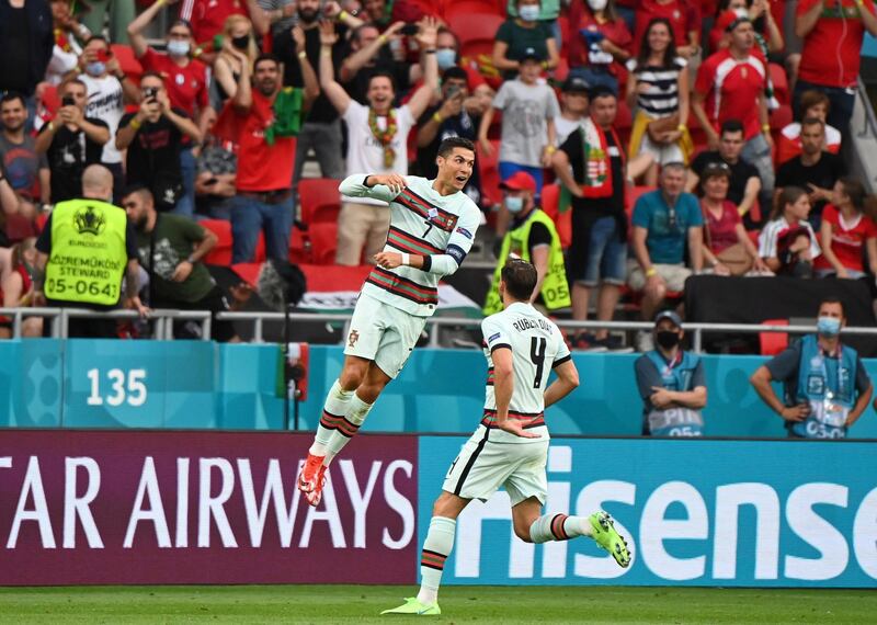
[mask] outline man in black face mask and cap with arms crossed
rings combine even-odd
[[[634,363],[642,398],[643,436],[702,436],[706,376],[701,356],[682,349],[685,331],[672,310],[654,318],[654,349]]]

